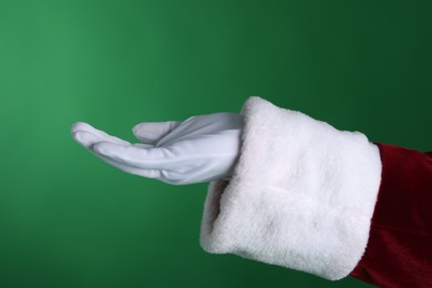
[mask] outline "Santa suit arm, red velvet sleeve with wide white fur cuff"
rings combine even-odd
[[[241,153],[234,175],[209,186],[200,234],[205,250],[233,253],[332,280],[351,275],[391,286],[390,276],[399,274],[410,284],[416,279],[429,284],[424,277],[431,275],[426,243],[431,213],[424,207],[431,207],[426,202],[428,196],[431,199],[431,165],[425,154],[372,144],[361,133],[338,131],[259,97],[249,99],[243,114]],[[416,160],[407,162],[412,154]],[[418,161],[423,161],[422,168],[416,168]],[[420,174],[393,182],[411,173]],[[408,189],[410,197],[401,194],[393,199],[393,186],[410,187],[419,177],[423,178],[421,195]],[[411,220],[405,219],[409,213]],[[394,226],[400,218],[405,225]],[[423,224],[421,235],[410,236],[411,222]],[[404,236],[391,229],[385,238],[382,234],[390,232],[381,226],[402,227]],[[391,247],[388,239],[394,241]],[[414,243],[421,244],[414,249],[429,256],[415,258],[416,254],[407,253]],[[407,270],[395,263],[408,256],[425,261],[419,266],[422,269]]]

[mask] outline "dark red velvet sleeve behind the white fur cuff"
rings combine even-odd
[[[432,287],[432,152],[378,146],[381,186],[367,249],[350,276],[380,287]]]

